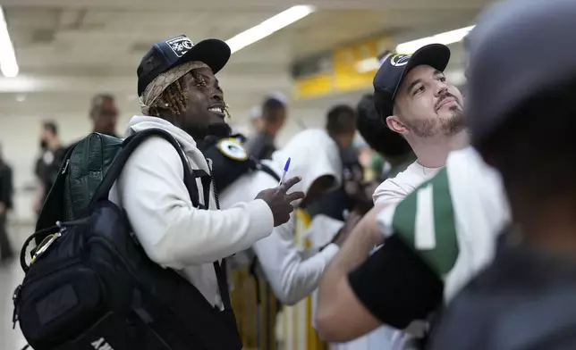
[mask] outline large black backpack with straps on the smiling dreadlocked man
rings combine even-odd
[[[13,321],[20,321],[34,349],[241,349],[225,266],[214,262],[224,304],[220,311],[176,271],[149,260],[123,210],[108,201],[132,151],[152,136],[176,147],[192,203],[206,209],[199,204],[196,179],[208,188],[210,176],[191,171],[174,137],[148,129],[126,139],[86,214],[36,232],[22,248],[26,276],[14,293]],[[29,266],[26,247],[37,237],[43,241]]]

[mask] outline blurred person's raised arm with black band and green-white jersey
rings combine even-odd
[[[470,146],[451,152],[433,179],[376,204],[352,231],[320,282],[320,333],[345,341],[381,324],[434,326],[432,316],[491,261],[509,218],[496,171]]]

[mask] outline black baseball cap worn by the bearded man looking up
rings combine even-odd
[[[374,106],[381,118],[392,115],[394,98],[402,79],[421,64],[444,71],[450,61],[450,49],[442,44],[420,47],[414,54],[388,54],[374,77]]]

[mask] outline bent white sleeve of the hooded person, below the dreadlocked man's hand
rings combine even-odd
[[[252,246],[275,296],[289,305],[298,303],[318,287],[322,272],[338,253],[338,247],[330,244],[303,260],[294,242],[294,221],[292,213],[290,221]]]

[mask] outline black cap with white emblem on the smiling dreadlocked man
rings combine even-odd
[[[175,66],[191,61],[206,63],[216,72],[224,68],[231,55],[230,46],[219,39],[206,39],[194,45],[185,35],[157,42],[144,55],[138,70],[138,96],[152,80]]]

